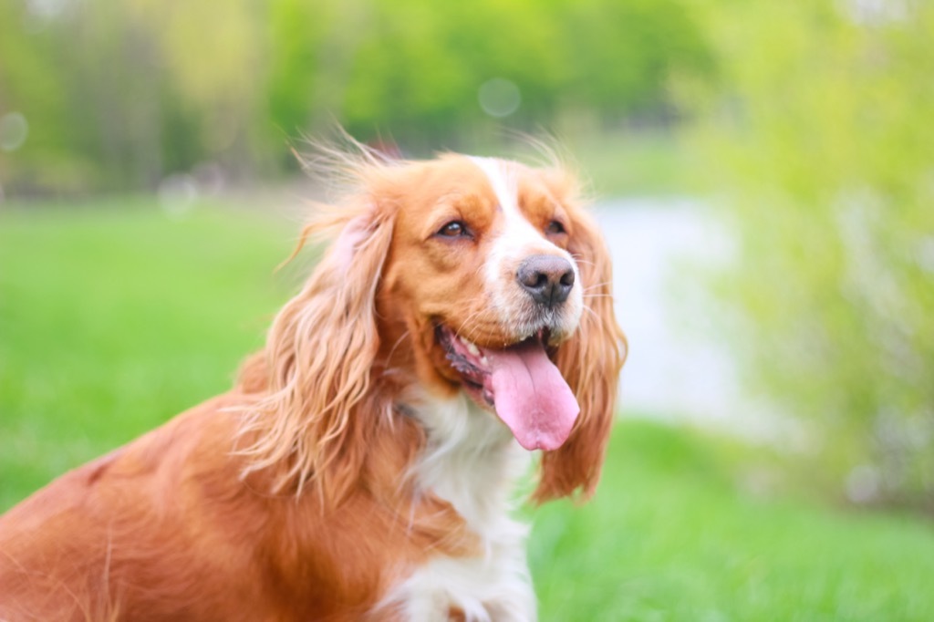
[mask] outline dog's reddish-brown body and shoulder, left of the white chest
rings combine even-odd
[[[436,500],[357,488],[332,511],[241,477],[251,399],[203,403],[0,516],[0,620],[359,620],[427,551],[465,549]]]

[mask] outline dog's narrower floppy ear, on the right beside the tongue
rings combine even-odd
[[[619,371],[626,360],[626,337],[613,313],[613,273],[606,245],[587,214],[575,208],[571,216],[568,250],[580,271],[585,309],[577,332],[559,347],[556,362],[581,412],[564,445],[542,457],[541,478],[532,495],[539,503],[571,496],[577,489],[587,499],[597,488],[613,426]]]

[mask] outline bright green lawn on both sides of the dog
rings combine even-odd
[[[0,211],[0,510],[230,386],[294,231],[154,201]],[[934,531],[744,492],[722,441],[616,427],[595,501],[535,511],[543,620],[930,620]]]

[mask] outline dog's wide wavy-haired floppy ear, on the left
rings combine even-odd
[[[248,457],[245,475],[272,468],[274,491],[298,494],[314,483],[322,500],[339,502],[361,473],[365,427],[378,425],[379,417],[354,411],[379,349],[375,292],[393,219],[360,205],[309,225],[303,240],[335,226],[337,240],[270,329],[266,395],[244,418],[248,446],[238,453]]]

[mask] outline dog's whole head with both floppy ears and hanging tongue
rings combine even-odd
[[[292,419],[281,430],[306,431],[290,441],[307,450],[295,474],[321,478],[365,454],[347,444],[372,439],[361,419],[391,407],[366,399],[387,392],[385,376],[463,391],[544,450],[539,501],[590,494],[625,342],[573,178],[461,155],[371,159],[354,173],[361,190],[326,220],[336,241],[267,346],[266,408]],[[266,439],[266,454],[286,441]]]

